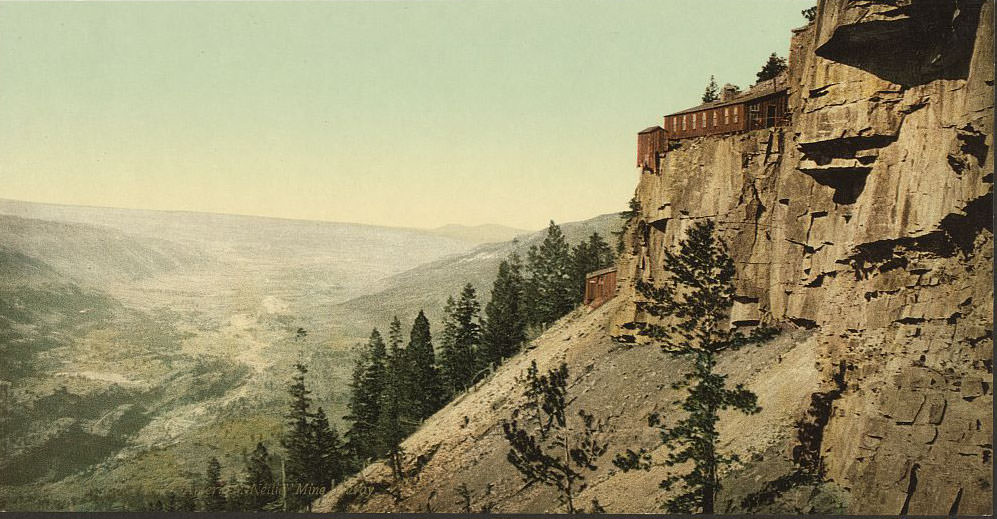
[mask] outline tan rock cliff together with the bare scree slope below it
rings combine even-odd
[[[474,510],[560,511],[548,490],[522,486],[499,424],[522,403],[515,378],[529,362],[563,358],[572,412],[613,429],[578,501],[659,511],[662,453],[651,472],[609,459],[655,444],[646,417],[674,399],[681,365],[624,325],[647,319],[634,281],[660,278],[663,250],[711,218],[737,264],[732,321],[783,328],[721,360],[763,411],[721,422],[742,463],[724,475],[719,509],[991,513],[992,27],[991,0],[821,0],[792,38],[790,125],[680,141],[637,186],[619,296],[427,420],[403,444],[400,486],[374,464],[317,508],[459,512],[466,485]],[[821,460],[823,482],[785,478],[807,459]]]

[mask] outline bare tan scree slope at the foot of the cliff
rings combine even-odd
[[[656,444],[647,415],[669,409],[676,397],[670,386],[680,377],[682,362],[655,347],[613,342],[608,324],[617,304],[613,301],[595,311],[578,310],[562,319],[534,341],[532,349],[510,359],[491,378],[427,420],[403,445],[411,476],[400,487],[393,487],[384,464],[375,463],[333,489],[315,509],[461,512],[463,501],[457,490],[465,484],[474,495],[474,510],[490,503],[495,512],[563,511],[551,491],[523,488],[518,473],[505,459],[508,447],[500,425],[522,403],[522,385],[516,378],[530,362],[537,361],[544,370],[563,359],[571,374],[572,414],[585,409],[597,417],[608,417],[612,429],[606,436],[609,452],[595,475],[588,478],[589,488],[579,503],[588,506],[597,498],[609,512],[660,511],[658,482],[664,468],[624,474],[610,460],[627,448]],[[724,420],[721,432],[725,448],[745,460],[769,462],[755,463],[764,465],[752,474],[759,482],[740,481],[736,477],[740,471],[733,471],[730,491],[722,496],[722,503],[724,497],[739,502],[760,482],[781,475],[789,466],[789,452],[796,441],[792,424],[803,416],[816,389],[814,346],[808,332],[785,332],[762,347],[723,357],[720,369],[730,374],[732,383],[744,382],[758,393],[763,407],[757,415]],[[486,490],[489,485],[490,495]],[[400,500],[392,495],[395,492]]]

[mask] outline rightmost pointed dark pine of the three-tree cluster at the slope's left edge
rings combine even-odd
[[[432,416],[443,405],[443,383],[436,367],[436,353],[429,330],[429,319],[422,310],[412,324],[409,344],[408,387],[411,388],[412,411],[417,420]]]

